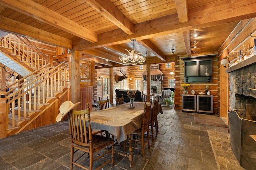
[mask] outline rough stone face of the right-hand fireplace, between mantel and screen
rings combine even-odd
[[[256,64],[230,72],[230,107],[240,118],[256,121]]]

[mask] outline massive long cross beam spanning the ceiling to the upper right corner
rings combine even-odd
[[[155,20],[150,20],[134,25],[134,34],[127,35],[120,29],[98,34],[97,43],[88,43],[82,39],[73,41],[73,47],[76,50],[94,49],[106,45],[118,45],[128,43],[130,39],[142,40],[153,37],[164,36],[166,34],[190,31],[234,21],[240,21],[256,17],[256,2],[248,0],[216,1],[215,3],[205,4],[198,8],[193,8],[188,13],[188,22],[180,23],[177,14],[164,16]],[[230,5],[226,5],[230,4]]]

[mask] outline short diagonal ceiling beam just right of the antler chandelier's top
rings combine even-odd
[[[166,61],[166,56],[164,55],[164,53],[162,53],[162,51],[160,51],[149,39],[142,39],[138,40],[137,42],[146,49],[150,50],[151,53],[156,55],[156,57],[158,57],[160,60]]]

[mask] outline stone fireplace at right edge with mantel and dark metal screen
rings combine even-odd
[[[238,162],[246,169],[256,167],[256,141],[250,136],[256,135],[256,56],[251,58],[227,70],[232,110],[228,113],[230,143]]]

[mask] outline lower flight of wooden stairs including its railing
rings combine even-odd
[[[67,66],[67,61],[56,67],[48,64],[18,80],[17,86],[2,89],[10,88],[6,92],[8,135],[21,132],[68,92]]]

